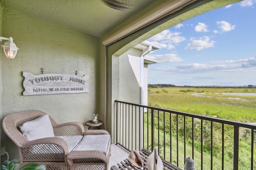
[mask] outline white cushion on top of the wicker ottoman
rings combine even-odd
[[[110,135],[86,135],[74,150],[99,150],[108,155]]]

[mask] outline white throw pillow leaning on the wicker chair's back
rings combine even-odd
[[[45,137],[54,137],[49,115],[42,115],[35,120],[24,123],[20,126],[20,130],[28,141]]]

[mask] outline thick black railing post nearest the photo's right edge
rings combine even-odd
[[[239,126],[234,126],[234,170],[238,170]]]

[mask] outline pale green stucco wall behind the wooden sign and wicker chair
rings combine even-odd
[[[2,53],[2,117],[38,109],[57,123],[85,121],[99,106],[99,39],[30,16],[3,10],[2,35],[12,36],[19,51],[14,59]],[[89,93],[23,96],[23,71],[32,74],[65,73],[89,75]],[[101,114],[101,113],[99,113]],[[103,114],[100,117],[103,117]],[[86,127],[87,128],[87,127]],[[4,132],[2,146],[18,159],[17,147]]]

